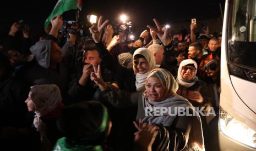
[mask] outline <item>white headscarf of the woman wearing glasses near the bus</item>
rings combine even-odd
[[[178,73],[177,73],[177,82],[178,84],[186,87],[186,88],[189,88],[190,86],[194,85],[195,82],[198,81],[198,77],[194,75],[194,78],[192,78],[191,80],[187,80],[187,79],[183,79],[182,78],[182,75],[181,75],[181,71],[182,71],[182,67],[183,66],[187,66],[189,64],[193,64],[195,66],[195,74],[197,74],[197,62],[195,62],[194,60],[192,59],[186,59],[186,60],[183,60],[181,62],[181,64],[179,65],[179,68],[178,68]]]

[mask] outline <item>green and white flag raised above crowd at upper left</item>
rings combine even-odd
[[[58,14],[61,15],[64,11],[77,8],[81,8],[81,0],[59,0],[45,21],[45,28],[50,24],[51,19],[55,18]]]

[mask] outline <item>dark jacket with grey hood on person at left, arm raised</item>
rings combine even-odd
[[[68,83],[68,62],[66,58],[72,50],[72,42],[67,42],[62,48],[62,61],[57,68],[50,68],[51,40],[42,40],[30,47],[31,53],[36,57],[36,63],[24,66],[19,73],[20,77],[30,85],[56,84],[65,97]]]

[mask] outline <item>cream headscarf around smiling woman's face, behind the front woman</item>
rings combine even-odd
[[[135,63],[134,63],[134,56],[135,55],[143,55],[146,59],[146,61],[148,61],[149,63],[149,70],[147,73],[144,74],[139,74],[137,69],[135,68]],[[158,68],[159,66],[156,65],[156,61],[154,56],[152,55],[152,53],[150,52],[150,50],[146,49],[146,48],[139,48],[137,50],[134,51],[133,53],[133,71],[134,74],[136,75],[136,90],[137,91],[143,91],[145,90],[145,83],[146,83],[146,77],[148,77],[149,72],[154,69],[154,68]]]

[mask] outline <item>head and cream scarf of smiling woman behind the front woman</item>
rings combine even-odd
[[[133,71],[136,75],[136,90],[138,92],[145,90],[146,77],[150,71],[159,67],[152,53],[146,48],[139,48],[133,54]]]

